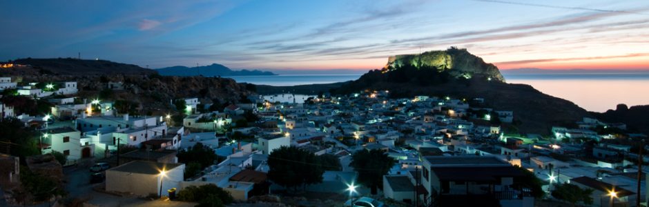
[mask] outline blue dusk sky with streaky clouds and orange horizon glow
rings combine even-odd
[[[524,2],[524,3],[523,3]],[[450,46],[498,68],[649,70],[649,1],[0,1],[0,59],[382,68]]]

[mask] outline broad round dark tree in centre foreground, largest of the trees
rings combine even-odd
[[[268,178],[284,188],[297,190],[298,186],[322,182],[320,159],[313,153],[295,146],[282,146],[268,156]]]

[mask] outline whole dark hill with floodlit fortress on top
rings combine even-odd
[[[545,95],[524,84],[505,83],[496,66],[467,50],[425,52],[389,58],[385,68],[371,70],[360,79],[331,90],[348,94],[360,90],[389,90],[393,97],[415,95],[484,98],[487,107],[512,110],[516,120],[510,128],[548,135],[552,126],[568,126],[592,117],[574,103]]]

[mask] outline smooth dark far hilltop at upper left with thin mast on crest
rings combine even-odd
[[[50,59],[17,59],[14,63],[30,65],[42,73],[52,75],[101,75],[101,74],[130,74],[149,75],[155,74],[155,70],[149,70],[133,64],[115,63],[105,60],[88,60],[72,58],[50,58]]]

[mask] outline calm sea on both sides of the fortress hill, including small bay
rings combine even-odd
[[[274,75],[230,77],[238,82],[269,86],[296,86],[356,80],[358,75]],[[594,112],[614,109],[617,104],[649,105],[649,72],[507,74],[507,83],[531,85],[545,94],[566,99]],[[309,95],[297,95],[302,102]],[[293,101],[291,95],[268,96],[273,101]]]

